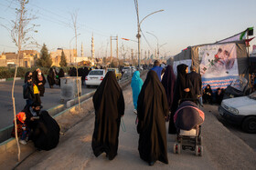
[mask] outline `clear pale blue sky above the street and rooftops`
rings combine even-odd
[[[141,49],[154,53],[157,43],[160,55],[176,55],[192,45],[215,43],[256,25],[255,0],[138,0],[141,23]],[[16,52],[6,27],[16,19],[15,0],[0,1],[0,53]],[[111,36],[118,35],[119,54],[137,50],[137,15],[134,0],[29,0],[27,12],[37,16],[30,24],[38,25],[30,35],[49,51],[75,48],[71,15],[77,14],[78,53],[91,55],[94,37],[96,57],[110,55]],[[254,35],[256,35],[254,31]],[[128,38],[132,41],[125,41]],[[256,39],[256,38],[255,38]],[[251,46],[256,45],[256,40]],[[120,48],[123,46],[123,50]],[[39,47],[30,47],[40,51]],[[112,41],[113,56],[116,41]],[[251,48],[250,48],[251,51]]]

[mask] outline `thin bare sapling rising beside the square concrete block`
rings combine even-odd
[[[79,99],[79,110],[80,110],[80,85],[79,85],[79,70],[78,70],[78,62],[77,62],[77,57],[78,57],[78,27],[77,27],[77,19],[78,19],[78,14],[77,12],[71,14],[71,19],[72,19],[72,28],[75,32],[75,37],[76,37],[76,69],[77,69],[77,88],[78,88],[78,99]]]

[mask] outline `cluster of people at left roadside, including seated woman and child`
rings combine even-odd
[[[64,76],[62,69],[58,75]],[[57,82],[59,77],[53,68],[48,72],[48,83],[59,85]],[[38,150],[50,150],[59,144],[59,125],[48,114],[48,111],[42,110],[40,97],[45,94],[46,78],[41,70],[37,68],[34,72],[27,72],[25,75],[25,84],[23,85],[23,97],[26,100],[26,105],[16,115],[15,126],[12,131],[12,136],[19,138],[19,143],[27,145],[28,141],[32,141]],[[15,122],[14,122],[15,124]]]

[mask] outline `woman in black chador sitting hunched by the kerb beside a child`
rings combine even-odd
[[[39,117],[32,141],[37,149],[48,151],[59,144],[59,125],[48,111],[42,111]]]

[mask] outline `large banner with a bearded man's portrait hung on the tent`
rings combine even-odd
[[[201,46],[198,56],[204,87],[226,88],[239,75],[235,44]]]

